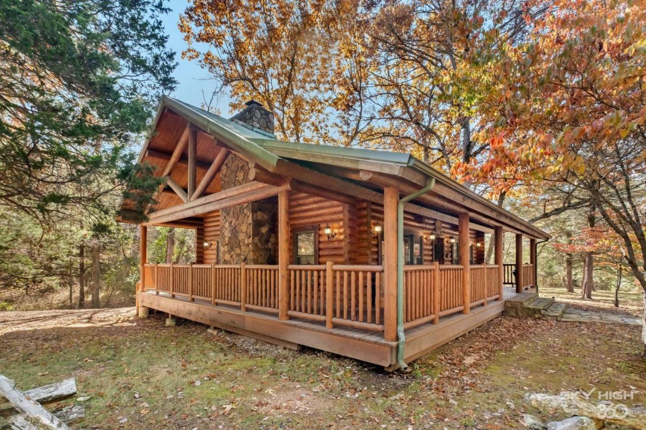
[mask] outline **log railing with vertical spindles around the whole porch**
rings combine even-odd
[[[289,317],[324,322],[328,328],[384,331],[383,266],[327,263],[289,265],[287,270]],[[439,323],[463,311],[463,271],[462,265],[404,266],[404,328]],[[526,283],[534,282],[532,265],[525,265],[523,274]],[[278,313],[280,307],[278,265],[147,264],[144,276],[143,291],[241,311]],[[470,305],[499,298],[500,282],[498,265],[471,265]]]

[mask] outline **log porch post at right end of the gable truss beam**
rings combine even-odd
[[[278,193],[278,319],[289,320],[289,192]]]

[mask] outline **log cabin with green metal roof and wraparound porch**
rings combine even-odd
[[[536,243],[550,238],[410,154],[280,141],[256,101],[225,119],[163,97],[138,161],[164,179],[140,222],[142,316],[387,370],[536,291]],[[132,210],[124,200],[120,221]],[[194,229],[195,261],[149,263],[149,226]]]

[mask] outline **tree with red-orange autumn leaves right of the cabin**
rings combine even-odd
[[[515,178],[574,190],[621,238],[646,292],[645,20],[643,0],[557,0],[528,43],[501,51],[474,178],[514,165]]]

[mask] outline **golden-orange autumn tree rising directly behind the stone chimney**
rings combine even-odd
[[[232,108],[252,98],[263,103],[281,138],[331,139],[333,52],[353,7],[353,1],[196,0],[180,16],[189,44],[182,56],[207,68],[218,91],[229,90]],[[208,48],[200,50],[201,43]]]

